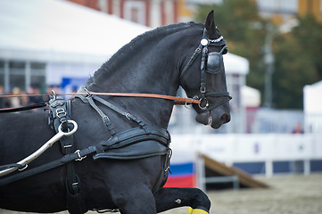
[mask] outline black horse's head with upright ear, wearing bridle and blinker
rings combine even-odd
[[[227,53],[227,46],[215,25],[213,11],[208,14],[203,34],[198,40],[200,45],[193,49],[194,53],[190,53],[182,66],[180,82],[189,97],[201,101],[194,104],[198,113],[196,121],[219,128],[230,120],[231,97],[227,92],[222,57]]]

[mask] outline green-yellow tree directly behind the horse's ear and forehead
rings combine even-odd
[[[250,61],[247,85],[264,91],[265,65],[262,47],[265,42],[265,25],[252,0],[224,0],[222,4],[201,4],[195,21],[202,22],[214,10],[215,22],[227,40],[228,51]],[[263,96],[261,96],[263,97]]]

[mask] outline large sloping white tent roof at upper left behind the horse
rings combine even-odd
[[[0,1],[0,57],[102,63],[149,28],[58,0]]]

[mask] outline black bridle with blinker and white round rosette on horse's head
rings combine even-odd
[[[219,29],[216,29],[219,31]],[[197,56],[202,53],[202,62],[200,65],[201,78],[200,78],[200,93],[201,95],[194,95],[193,99],[200,101],[198,104],[199,108],[202,111],[211,111],[220,105],[229,102],[232,97],[228,92],[207,92],[206,89],[206,72],[211,74],[218,74],[221,70],[224,69],[223,54],[227,53],[226,41],[220,36],[217,39],[210,39],[207,37],[207,30],[203,29],[202,40],[199,46],[195,49],[193,56],[186,63],[184,70],[182,70],[180,79],[186,74],[186,71],[193,65]],[[208,52],[208,46],[224,46],[219,53],[217,52]],[[207,97],[225,97],[225,99],[213,106],[210,106]]]

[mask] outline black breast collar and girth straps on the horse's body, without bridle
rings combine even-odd
[[[79,92],[87,92],[82,87]],[[19,174],[14,174],[10,177],[4,177],[0,180],[1,185],[8,185],[25,177],[36,175],[49,169],[54,169],[59,166],[67,166],[67,177],[65,180],[66,186],[66,204],[70,213],[87,212],[87,207],[84,203],[84,195],[81,193],[79,178],[76,174],[74,161],[82,161],[89,154],[93,154],[93,159],[117,159],[117,160],[135,160],[153,156],[164,155],[166,157],[164,163],[163,177],[161,183],[165,183],[168,177],[169,159],[171,150],[169,149],[170,136],[168,130],[164,128],[156,128],[147,126],[141,119],[137,119],[131,113],[120,110],[117,106],[105,101],[97,95],[77,95],[84,103],[89,103],[90,106],[102,117],[103,123],[107,127],[111,137],[99,144],[92,145],[86,149],[77,150],[74,144],[73,136],[62,136],[60,138],[62,153],[64,156],[61,159],[38,166],[37,168],[21,171]],[[134,121],[138,127],[131,128],[126,131],[116,133],[109,117],[95,104],[102,103],[111,110],[119,113],[129,120]],[[48,125],[54,128],[56,133],[60,131],[68,132],[73,129],[73,123],[70,122],[70,101],[65,101],[62,96],[53,95],[49,101],[50,112],[48,114]],[[2,166],[0,169],[12,169],[12,167],[24,168],[19,164],[9,164]],[[157,187],[154,191],[156,191]]]

